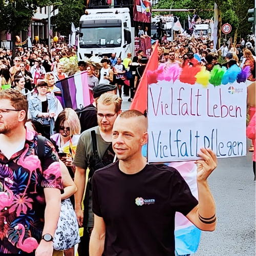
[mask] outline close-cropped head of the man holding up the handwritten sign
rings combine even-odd
[[[121,113],[113,126],[113,149],[119,160],[130,161],[141,155],[147,142],[147,118],[137,110]]]

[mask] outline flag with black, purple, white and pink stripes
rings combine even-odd
[[[60,89],[61,95],[55,95],[63,108],[76,110],[91,104],[87,71],[59,80],[55,85]]]

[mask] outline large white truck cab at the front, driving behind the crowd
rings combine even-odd
[[[124,59],[134,49],[132,32],[129,8],[88,9],[80,18],[77,58],[116,53]]]

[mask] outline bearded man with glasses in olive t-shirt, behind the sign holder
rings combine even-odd
[[[81,203],[86,185],[86,172],[89,180],[93,173],[113,162],[112,129],[117,116],[121,113],[122,99],[115,94],[104,93],[97,100],[98,126],[82,133],[79,138],[73,164],[76,166],[75,212],[80,227],[84,227],[83,241],[80,246],[82,255],[89,255],[90,234],[94,225],[90,183],[86,187],[84,211]]]

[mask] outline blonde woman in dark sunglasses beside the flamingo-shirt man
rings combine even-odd
[[[55,121],[54,131],[56,134],[51,136],[51,140],[59,147],[59,158],[65,163],[71,177],[74,178],[75,166],[72,162],[81,132],[76,112],[70,108],[61,111]]]

